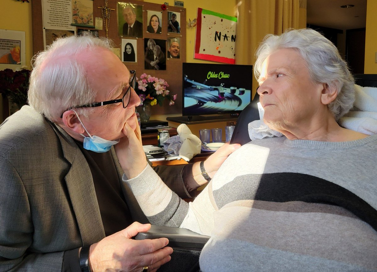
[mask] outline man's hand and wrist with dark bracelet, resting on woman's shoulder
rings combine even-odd
[[[231,144],[230,145],[229,143],[225,143],[224,145],[222,145],[222,147],[220,147],[218,150],[216,150],[215,153],[213,153],[211,156],[209,156],[207,158],[207,160],[205,160],[205,162],[204,162],[204,168],[205,168],[205,171],[207,172],[208,176],[210,176],[210,178],[215,176],[217,170],[219,170],[219,168],[222,165],[222,163],[224,162],[224,160],[227,159],[227,157],[231,153],[233,153],[234,150],[236,150],[240,147],[241,147],[240,144]],[[192,170],[193,171],[193,177],[199,185],[203,185],[203,184],[207,183],[207,180],[205,180],[204,177],[202,176],[199,164],[200,164],[200,162],[196,162],[195,165],[192,168],[193,169]]]

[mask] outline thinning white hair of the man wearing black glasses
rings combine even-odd
[[[89,35],[60,38],[33,57],[28,91],[29,105],[51,121],[75,106],[92,103],[96,93],[89,86],[84,65],[75,55],[95,47],[112,49],[106,38]],[[87,116],[90,108],[78,108],[80,115]]]

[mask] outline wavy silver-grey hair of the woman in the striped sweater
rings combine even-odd
[[[336,88],[338,95],[328,105],[336,120],[352,108],[355,100],[355,82],[347,63],[340,57],[336,46],[313,29],[288,29],[279,36],[268,34],[256,51],[254,75],[257,79],[261,75],[264,60],[281,48],[297,50],[306,61],[314,82],[326,83]]]

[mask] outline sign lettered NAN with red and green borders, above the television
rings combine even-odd
[[[198,8],[194,58],[236,62],[237,17]]]

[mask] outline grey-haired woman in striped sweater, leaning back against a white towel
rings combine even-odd
[[[264,122],[284,136],[236,150],[190,204],[146,162],[123,179],[153,224],[211,235],[202,271],[375,270],[377,135],[337,124],[354,101],[345,61],[300,29],[267,35],[254,69]]]

